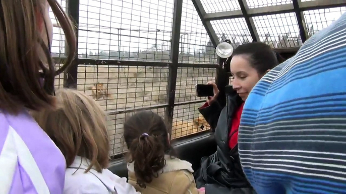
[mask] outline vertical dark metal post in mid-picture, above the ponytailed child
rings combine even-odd
[[[174,102],[176,95],[176,82],[178,73],[178,57],[180,43],[180,25],[182,21],[183,0],[174,1],[174,16],[172,26],[172,39],[170,44],[170,61],[168,71],[167,99],[168,107],[165,110],[166,120],[169,126],[169,134],[171,134],[171,126],[173,121]]]

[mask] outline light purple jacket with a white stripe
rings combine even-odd
[[[66,161],[32,117],[0,110],[0,193],[61,194]]]

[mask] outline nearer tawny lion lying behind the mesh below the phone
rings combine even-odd
[[[192,122],[189,121],[176,121],[172,125],[171,139],[184,137],[187,135],[195,134],[200,131],[210,129],[210,125],[204,119],[202,115],[195,118]]]

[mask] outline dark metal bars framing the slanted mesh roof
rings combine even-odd
[[[245,22],[250,31],[251,38],[253,41],[258,41],[259,36],[254,25],[253,17],[256,16],[268,16],[275,14],[284,14],[284,13],[295,13],[299,33],[304,43],[307,40],[307,30],[305,27],[305,21],[303,12],[310,10],[318,10],[318,9],[327,9],[327,8],[337,8],[346,6],[346,1],[344,0],[335,0],[335,1],[324,1],[324,0],[314,0],[314,1],[304,1],[301,0],[292,0],[292,4],[283,4],[283,5],[274,5],[260,8],[250,8],[247,4],[246,0],[238,0],[240,10],[235,11],[225,11],[225,12],[217,12],[217,13],[206,13],[201,0],[191,0],[198,12],[199,17],[202,20],[202,23],[212,40],[214,45],[219,44],[219,39],[212,28],[210,21],[214,20],[222,20],[222,19],[235,19],[235,18],[244,18]],[[277,49],[281,52],[286,52],[285,49]],[[297,51],[298,48],[289,48],[289,50]]]

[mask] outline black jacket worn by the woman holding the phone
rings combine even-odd
[[[209,157],[201,159],[201,168],[195,172],[197,187],[205,187],[206,193],[255,193],[247,181],[238,154],[238,146],[229,149],[228,136],[232,126],[232,118],[243,103],[232,86],[225,87],[226,106],[222,108],[218,102],[199,111],[215,130],[217,151]]]

